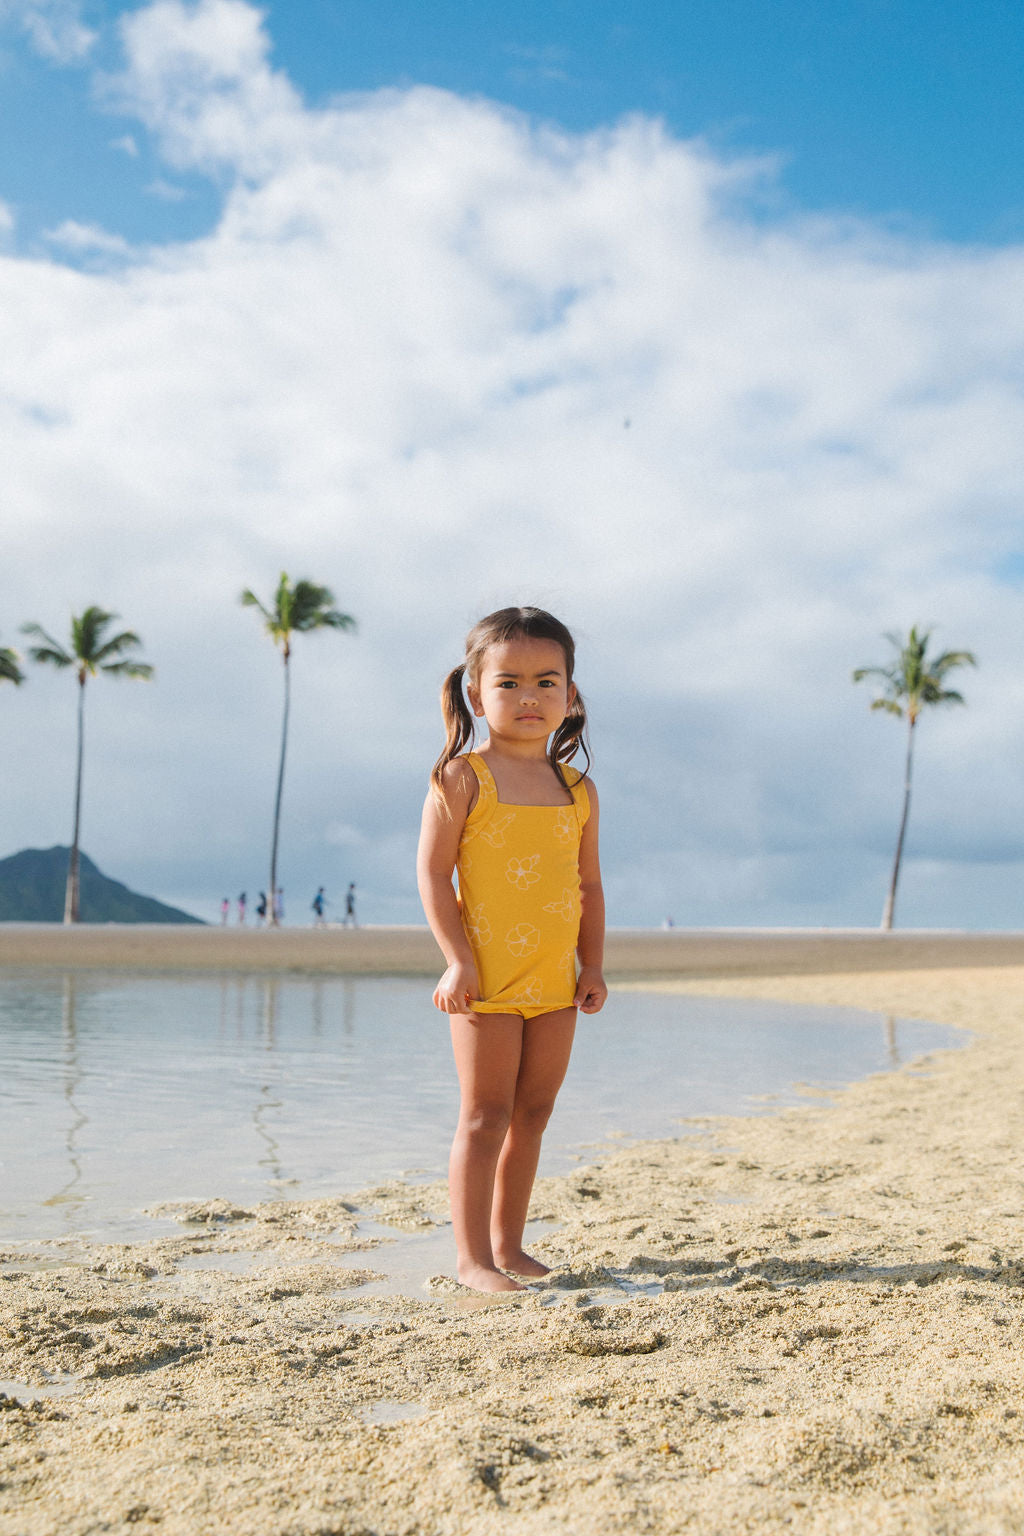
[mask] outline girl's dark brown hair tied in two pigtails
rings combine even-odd
[[[434,763],[430,780],[434,796],[444,803],[444,771],[453,757],[457,757],[464,746],[471,746],[476,736],[473,714],[465,702],[462,679],[474,688],[481,677],[484,656],[491,645],[504,645],[505,641],[554,641],[562,647],[565,656],[565,680],[573,682],[573,665],[576,662],[576,642],[565,625],[543,608],[499,608],[488,613],[485,619],[474,624],[465,637],[465,660],[453,667],[441,685],[441,713],[444,714],[447,740],[441,757]],[[559,779],[565,783],[562,763],[570,762],[577,751],[583,753],[590,768],[590,748],[586,743],[586,710],[577,693],[568,713],[548,746],[548,760]]]

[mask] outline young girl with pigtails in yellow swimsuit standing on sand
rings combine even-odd
[[[476,1290],[522,1290],[505,1270],[547,1273],[522,1249],[540,1137],[576,1009],[596,1014],[608,995],[597,794],[567,766],[586,753],[574,654],[550,613],[502,608],[470,631],[465,662],[441,694],[448,739],[424,806],[418,872],[448,962],[434,1006],[451,1020],[462,1095],[451,1221],[459,1279]],[[461,756],[473,716],[488,736]]]

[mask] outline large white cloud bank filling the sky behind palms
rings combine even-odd
[[[1021,250],[766,224],[763,164],[643,118],[313,111],[243,0],[157,0],[123,43],[118,100],[224,186],[216,227],[0,267],[0,622],[109,604],[158,667],[91,697],[101,865],[258,885],[279,662],[236,594],[286,568],[361,621],[296,647],[290,891],[416,919],[438,682],[533,601],[579,631],[614,920],[875,922],[901,740],[849,673],[935,622],[983,670],[923,727],[904,919],[1024,922]],[[60,682],[5,700],[11,848],[66,836]]]

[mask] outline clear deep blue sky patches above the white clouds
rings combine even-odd
[[[209,183],[167,177],[138,124],[97,111],[94,71],[115,66],[117,18],[137,6],[84,0],[77,14],[94,41],[64,68],[29,46],[26,9],[71,8],[11,0],[3,25],[3,194],[23,238],[64,218],[130,240],[209,227]],[[425,83],[574,131],[652,114],[725,152],[780,157],[768,217],[792,200],[956,241],[1024,235],[1024,9],[1013,0],[651,0],[636,12],[605,0],[292,0],[263,11],[275,63],[310,104]],[[137,157],[112,147],[124,135]]]

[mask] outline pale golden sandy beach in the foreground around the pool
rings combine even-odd
[[[491,1304],[373,1284],[444,1186],[2,1253],[0,1531],[1024,1531],[1019,935],[662,937],[611,969],[970,1035],[542,1181]]]

